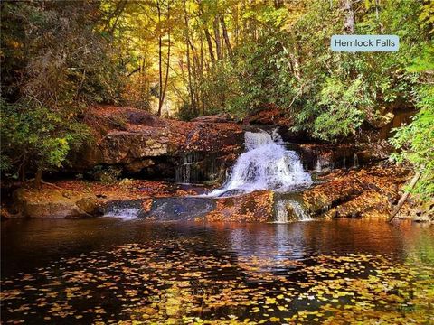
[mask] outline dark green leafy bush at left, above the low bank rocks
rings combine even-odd
[[[1,112],[2,172],[15,178],[24,167],[33,171],[61,167],[71,149],[78,149],[89,136],[85,125],[34,102],[2,100]]]

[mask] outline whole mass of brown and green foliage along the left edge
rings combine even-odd
[[[121,100],[124,71],[98,32],[99,2],[2,3],[6,176],[53,170],[85,139],[85,107]]]

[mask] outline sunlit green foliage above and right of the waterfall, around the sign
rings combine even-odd
[[[340,5],[312,0],[250,8],[246,14],[266,27],[255,31],[256,39],[244,39],[233,57],[205,77],[205,92],[212,96],[206,97],[203,114],[229,111],[243,117],[272,104],[293,116],[293,130],[335,142],[354,135],[363,123],[382,125],[384,116],[402,103],[413,106],[420,74],[406,67],[429,42],[428,5],[411,0],[354,3],[357,33],[398,34],[401,48],[395,53],[338,53],[329,51],[328,40],[344,33]]]

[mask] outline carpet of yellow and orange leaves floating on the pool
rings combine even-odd
[[[426,252],[399,259],[351,252],[288,258],[275,247],[266,254],[234,255],[232,245],[196,233],[61,257],[4,279],[2,320],[429,324],[434,319],[434,259]]]

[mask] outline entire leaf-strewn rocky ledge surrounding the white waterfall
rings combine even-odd
[[[96,107],[85,119],[96,142],[71,156],[72,165],[66,173],[52,175],[42,189],[24,186],[14,190],[2,207],[3,217],[112,216],[231,222],[384,220],[411,176],[409,170],[383,160],[387,155],[381,138],[372,144],[371,151],[363,143],[301,143],[302,136],[288,134],[286,125],[242,125],[222,118],[180,122],[126,107]],[[283,139],[278,135],[279,146],[297,153],[314,182],[298,190],[203,196],[222,184],[231,166],[247,150],[246,132],[264,130],[283,135]],[[259,144],[264,141],[263,137],[254,140]],[[256,159],[261,160],[260,156]],[[76,178],[71,179],[71,174]],[[65,180],[67,177],[69,180]],[[404,206],[402,218],[418,213],[410,210],[411,205],[410,200]],[[432,218],[432,207],[423,209],[420,218]]]

